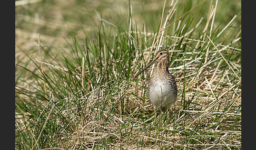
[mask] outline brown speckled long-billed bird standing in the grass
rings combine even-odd
[[[156,51],[153,61],[135,75],[139,76],[143,71],[157,63],[147,84],[147,95],[154,109],[169,110],[177,99],[177,84],[175,77],[169,72],[169,52],[166,49]]]

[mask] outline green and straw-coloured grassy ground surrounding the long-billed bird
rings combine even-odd
[[[16,149],[241,149],[240,1],[20,2]],[[159,48],[178,100],[155,117],[134,75]]]

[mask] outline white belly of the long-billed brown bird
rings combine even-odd
[[[155,109],[160,105],[161,108],[166,106],[169,109],[175,101],[171,85],[162,81],[157,82],[150,88],[149,99]]]

